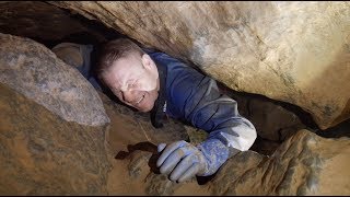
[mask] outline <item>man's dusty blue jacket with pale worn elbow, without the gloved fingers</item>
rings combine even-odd
[[[160,71],[160,95],[165,103],[159,107],[170,117],[209,132],[199,148],[207,157],[215,157],[212,165],[220,167],[230,157],[252,147],[255,127],[240,115],[234,100],[219,92],[213,79],[166,54],[148,54]]]

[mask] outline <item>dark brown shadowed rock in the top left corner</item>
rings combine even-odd
[[[49,42],[89,32],[97,40],[105,40],[103,34],[88,27],[73,13],[46,2],[2,1],[0,13],[1,33]]]

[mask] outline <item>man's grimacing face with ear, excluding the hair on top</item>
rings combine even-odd
[[[141,112],[153,108],[160,82],[156,66],[149,55],[118,59],[103,79],[122,103]]]

